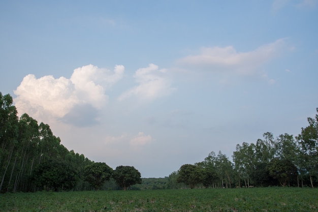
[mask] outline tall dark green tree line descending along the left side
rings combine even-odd
[[[132,166],[115,170],[68,150],[47,124],[17,116],[12,97],[0,92],[0,192],[128,189],[141,183]],[[105,189],[105,188],[104,188]]]

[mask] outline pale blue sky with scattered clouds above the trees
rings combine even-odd
[[[165,177],[318,107],[318,1],[1,1],[0,92],[95,162]]]

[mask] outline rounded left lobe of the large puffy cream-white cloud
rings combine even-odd
[[[36,117],[45,113],[62,117],[79,102],[74,84],[64,77],[54,79],[53,76],[44,76],[37,79],[29,74],[14,94],[17,96],[14,102],[18,112]]]

